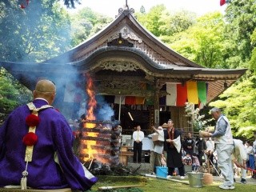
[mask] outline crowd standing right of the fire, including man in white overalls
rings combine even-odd
[[[164,140],[153,142],[150,174],[155,174],[156,166],[166,165],[167,178],[173,178],[178,174],[183,179],[186,166],[197,171],[206,163],[206,166],[214,167],[217,174],[224,178],[222,185],[219,186],[223,190],[234,189],[234,170],[240,170],[242,184],[246,184],[248,176],[255,178],[256,132],[255,141],[246,142],[244,145],[242,140],[233,138],[230,122],[220,109],[214,107],[210,113],[216,121],[214,131],[202,131],[195,139],[191,133],[187,133],[182,140],[182,132],[174,128],[172,120],[159,126],[158,129],[153,128],[156,132],[154,134],[159,134],[161,131]],[[154,147],[159,145],[161,147],[154,150]],[[165,157],[166,164],[162,164],[162,157]]]

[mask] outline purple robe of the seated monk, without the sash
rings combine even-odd
[[[46,105],[42,101],[35,104]],[[20,185],[22,171],[26,169],[26,146],[22,138],[28,132],[25,119],[29,114],[27,106],[18,107],[0,128],[0,186]],[[27,166],[27,186],[43,190],[66,187],[89,190],[97,178],[74,155],[74,136],[64,116],[49,108],[39,111],[38,117],[41,119],[35,130],[38,142]],[[54,154],[58,154],[59,165]]]

